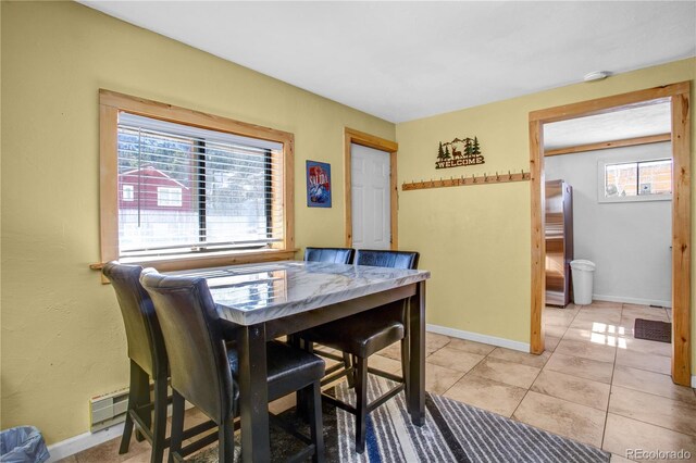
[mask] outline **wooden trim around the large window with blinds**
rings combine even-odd
[[[119,187],[117,122],[119,112],[125,111],[146,117],[169,121],[224,132],[245,137],[275,141],[283,145],[283,191],[274,196],[274,203],[285,210],[283,241],[262,251],[226,251],[208,255],[186,255],[177,259],[158,259],[139,262],[161,271],[199,268],[215,265],[269,262],[293,259],[295,255],[295,136],[287,132],[262,127],[203,112],[117,93],[99,90],[99,151],[100,151],[100,228],[101,262],[90,265],[100,270],[103,263],[119,259]]]

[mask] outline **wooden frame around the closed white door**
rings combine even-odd
[[[396,153],[399,150],[399,143],[396,141],[387,140],[385,138],[375,137],[374,135],[365,134],[364,132],[355,130],[352,128],[345,128],[344,132],[344,208],[346,213],[345,230],[346,230],[346,247],[352,248],[352,191],[351,191],[351,157],[350,145],[361,145],[368,148],[374,148],[375,150],[386,151],[389,153],[389,222],[391,227],[391,250],[399,249],[399,221],[398,221],[398,201],[399,201],[399,187],[396,178]]]

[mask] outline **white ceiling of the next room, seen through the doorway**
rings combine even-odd
[[[670,103],[649,104],[545,124],[544,148],[554,150],[579,145],[669,134],[671,130]]]

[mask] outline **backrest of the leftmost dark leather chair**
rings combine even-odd
[[[140,285],[139,265],[109,262],[102,274],[116,292],[128,341],[128,356],[152,378],[166,375],[166,350],[150,295]]]

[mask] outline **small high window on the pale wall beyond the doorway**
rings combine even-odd
[[[672,160],[598,163],[598,201],[631,202],[672,199]]]

